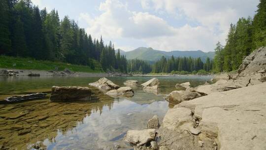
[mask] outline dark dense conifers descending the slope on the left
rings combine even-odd
[[[0,0],[0,55],[31,57],[87,65],[92,69],[127,72],[126,57],[87,35],[83,28],[58,11],[39,10],[31,0]]]

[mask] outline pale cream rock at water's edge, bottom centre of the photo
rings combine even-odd
[[[124,142],[131,145],[142,146],[151,142],[152,140],[155,140],[155,136],[155,129],[146,129],[140,131],[129,130],[124,138]]]

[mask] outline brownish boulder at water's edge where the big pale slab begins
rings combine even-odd
[[[197,92],[190,91],[172,91],[170,94],[166,96],[166,100],[173,103],[179,104],[183,101],[189,101],[195,98],[202,96]]]

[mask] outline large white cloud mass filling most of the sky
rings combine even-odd
[[[123,38],[140,40],[148,47],[161,50],[200,49],[211,51],[215,43],[225,41],[229,24],[239,17],[253,15],[259,0],[140,0],[143,10],[155,10],[160,14],[184,16],[186,24],[173,27],[163,18],[149,12],[133,12],[126,3],[119,0],[106,0],[100,3],[99,16],[91,17],[80,13],[79,19],[88,23],[86,31],[93,37],[108,40]],[[241,3],[241,5],[239,5]],[[165,13],[164,13],[165,12]],[[133,40],[133,41],[134,41]],[[128,50],[124,43],[116,47]],[[134,45],[135,48],[143,45]]]

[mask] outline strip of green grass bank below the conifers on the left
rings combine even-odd
[[[63,71],[68,68],[74,72],[84,73],[102,73],[100,68],[91,69],[89,66],[72,65],[62,62],[43,61],[35,60],[33,58],[21,58],[21,57],[10,57],[0,55],[0,68],[6,69],[24,69],[24,70],[44,70],[51,71],[58,67],[59,71]]]

